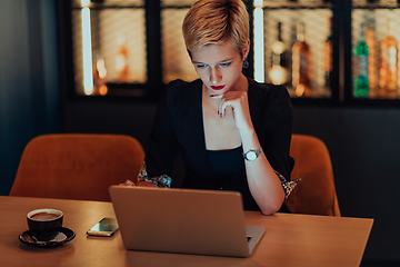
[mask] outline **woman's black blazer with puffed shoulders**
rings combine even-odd
[[[249,79],[249,108],[259,141],[272,168],[290,180],[293,159],[289,156],[292,106],[283,86],[261,85]],[[174,80],[161,98],[148,140],[146,165],[149,177],[171,176],[181,154],[187,174],[183,187],[219,189],[208,161],[202,120],[202,81]],[[243,159],[244,165],[244,159]],[[251,197],[246,169],[224,182],[223,189],[242,194],[244,209],[260,210]]]

